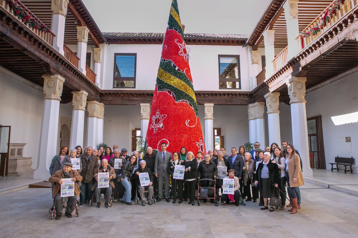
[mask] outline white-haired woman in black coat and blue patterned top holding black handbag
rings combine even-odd
[[[274,186],[277,188],[280,184],[280,172],[276,163],[271,162],[270,152],[263,154],[263,161],[258,164],[255,174],[255,185],[258,184],[260,195],[262,194],[264,205],[261,210],[269,209],[267,207],[267,199],[272,197]],[[275,197],[278,197],[276,194]],[[274,211],[274,207],[270,207],[270,212]]]

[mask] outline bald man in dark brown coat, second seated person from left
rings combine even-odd
[[[98,188],[98,173],[106,173],[108,172],[108,180],[109,186],[106,188]],[[113,183],[113,179],[116,178],[116,172],[114,168],[112,168],[107,159],[102,159],[101,166],[98,168],[97,173],[95,174],[95,182],[92,184],[92,191],[94,191],[94,195],[97,201],[97,208],[101,208],[101,190],[105,190],[105,208],[108,208],[108,203],[111,202],[112,188],[115,187]]]

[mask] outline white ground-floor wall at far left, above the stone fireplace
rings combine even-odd
[[[24,157],[36,168],[43,110],[43,92],[19,81],[0,67],[0,124],[11,126],[10,143],[26,143]]]

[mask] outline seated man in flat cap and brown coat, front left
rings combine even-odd
[[[73,182],[82,181],[82,176],[79,175],[76,169],[72,169],[72,163],[64,163],[63,168],[56,171],[48,181],[50,183],[54,183],[54,188],[52,191],[52,198],[55,199],[55,211],[56,211],[56,220],[59,220],[62,216],[63,205],[62,205],[62,197],[61,197],[61,184],[62,178],[72,178]],[[77,183],[74,183],[74,196],[68,197],[67,208],[65,212],[65,216],[68,218],[72,217],[72,212],[74,209],[74,205],[77,202],[77,197],[79,196],[79,187]]]

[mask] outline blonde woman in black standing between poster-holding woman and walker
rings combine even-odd
[[[194,158],[193,152],[189,151],[182,163],[185,166],[184,180],[185,189],[188,189],[189,203],[195,205],[195,187],[197,186],[198,161]]]

